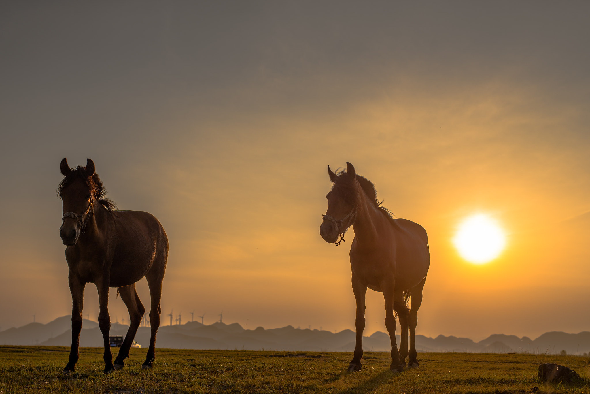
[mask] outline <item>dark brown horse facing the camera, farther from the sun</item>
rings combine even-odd
[[[145,313],[135,289],[135,283],[143,276],[148,281],[151,298],[151,335],[142,369],[150,369],[155,359],[156,333],[162,312],[160,298],[168,259],[166,232],[158,219],[147,212],[117,210],[116,204],[105,197],[106,190],[91,159],[87,159],[86,167],[70,168],[64,157],[60,170],[64,175],[57,188],[63,201],[60,236],[67,246],[65,260],[70,269],[68,282],[72,295],[72,345],[64,373],[73,372],[78,362],[87,283],[95,284],[99,292],[104,372],[124,367],[124,359],[129,357],[129,349]],[[114,364],[109,340],[109,287],[117,288],[129,310],[130,320]]]

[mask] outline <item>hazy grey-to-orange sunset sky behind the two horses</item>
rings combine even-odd
[[[162,310],[354,327],[326,164],[428,232],[417,332],[590,331],[588,2],[2,2],[0,330],[71,312],[60,160],[154,214]],[[451,242],[508,233],[476,266]],[[149,305],[145,279],[140,298]],[[84,314],[96,320],[96,288]],[[366,333],[386,331],[368,291]],[[112,320],[128,319],[110,299]],[[85,316],[86,317],[86,316]],[[196,318],[195,318],[196,320]],[[168,318],[162,319],[163,323]]]

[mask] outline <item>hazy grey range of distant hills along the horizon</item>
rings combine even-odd
[[[55,319],[47,324],[30,323],[18,328],[0,331],[0,344],[70,346],[70,316]],[[103,339],[99,324],[84,319],[80,334],[80,346],[102,347]],[[128,325],[111,324],[112,335],[125,335]],[[135,340],[142,347],[149,345],[149,327],[140,327]],[[399,344],[399,336],[396,340]],[[290,351],[352,351],[355,349],[355,333],[343,330],[330,331],[293,328],[291,325],[265,330],[244,330],[238,323],[214,323],[204,325],[196,321],[185,324],[163,325],[158,330],[157,346],[169,349],[244,349],[244,350],[290,350]],[[363,338],[363,348],[372,351],[389,351],[389,336],[377,331]],[[469,353],[559,353],[590,352],[590,332],[566,334],[557,331],[545,333],[535,340],[504,334],[494,334],[479,342],[469,338],[416,336],[418,351],[469,352]]]

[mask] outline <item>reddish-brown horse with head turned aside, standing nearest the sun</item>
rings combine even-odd
[[[367,288],[383,293],[385,326],[391,338],[391,366],[402,372],[410,350],[408,367],[419,366],[415,334],[417,312],[422,304],[422,289],[430,267],[428,237],[424,227],[405,219],[394,219],[391,211],[377,200],[371,181],[356,175],[349,162],[346,170],[335,174],[328,165],[330,181],[334,184],[327,194],[328,209],[323,215],[320,235],[328,243],[340,245],[350,226],[355,238],[350,246],[352,291],[356,299],[355,353],[348,371],[362,368],[363,330],[365,329],[365,295]],[[340,240],[338,238],[340,237]],[[411,296],[411,308],[408,300]],[[395,340],[395,314],[401,325],[400,350]]]

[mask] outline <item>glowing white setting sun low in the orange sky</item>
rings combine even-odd
[[[468,262],[483,264],[500,254],[506,245],[506,236],[495,220],[476,214],[460,224],[453,243]]]

